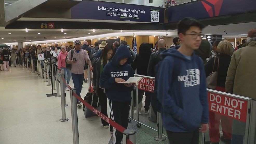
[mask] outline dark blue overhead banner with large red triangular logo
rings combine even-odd
[[[195,19],[234,15],[256,11],[256,0],[198,0],[168,8],[168,22],[178,22],[184,17]]]

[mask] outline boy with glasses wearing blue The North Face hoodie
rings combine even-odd
[[[196,19],[184,18],[178,23],[181,46],[161,54],[157,96],[170,144],[198,144],[199,131],[208,129],[204,64],[194,53],[202,41],[203,28]]]

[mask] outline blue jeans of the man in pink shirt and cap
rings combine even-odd
[[[76,94],[79,95],[79,97],[81,97],[80,93],[82,91],[82,86],[84,82],[84,74],[75,74],[75,73],[71,73],[71,74],[72,74],[74,87],[76,89]],[[77,101],[79,100],[77,99]]]

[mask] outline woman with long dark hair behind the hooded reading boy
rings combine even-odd
[[[93,63],[93,86],[96,94],[99,97],[100,111],[107,116],[107,97],[104,90],[99,87],[100,75],[103,72],[104,66],[111,61],[115,53],[114,47],[107,44],[102,50],[102,55]],[[109,128],[109,124],[101,119],[104,128]],[[110,130],[111,131],[111,130]]]

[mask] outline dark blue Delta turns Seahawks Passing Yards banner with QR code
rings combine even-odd
[[[144,5],[82,1],[71,8],[71,18],[164,23],[164,9]]]

